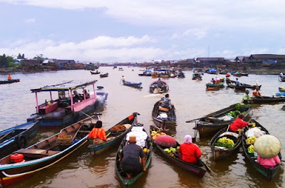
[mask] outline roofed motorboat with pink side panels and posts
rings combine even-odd
[[[93,113],[107,99],[108,95],[105,95],[106,93],[100,92],[100,95],[105,96],[102,98],[95,92],[96,81],[93,80],[88,83],[68,81],[57,85],[46,85],[43,88],[31,89],[31,92],[36,95],[36,114],[31,115],[28,120],[41,117],[40,126],[45,128],[62,127],[78,122],[78,120],[86,117],[86,114]],[[93,90],[93,93],[90,93],[89,96],[84,92],[88,86],[92,87],[90,89]],[[74,90],[82,90],[83,93],[77,103],[71,97]],[[46,103],[39,105],[38,93],[49,93],[50,99],[46,100]],[[58,98],[53,99],[52,94],[58,96]]]

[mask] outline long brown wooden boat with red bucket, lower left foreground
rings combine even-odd
[[[92,117],[88,117],[62,129],[56,135],[2,158],[0,160],[0,184],[6,186],[25,179],[68,157],[88,141],[87,137],[93,125],[95,122]],[[24,160],[12,163],[11,156],[14,154],[23,155]]]

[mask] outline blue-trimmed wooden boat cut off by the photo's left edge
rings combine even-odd
[[[27,147],[27,143],[36,137],[39,125],[38,120],[33,120],[2,130],[0,132],[0,158]]]

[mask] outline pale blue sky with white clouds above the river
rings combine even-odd
[[[125,62],[285,53],[285,1],[0,0],[0,54]]]

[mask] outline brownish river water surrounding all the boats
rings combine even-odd
[[[140,113],[139,122],[144,124],[146,130],[153,125],[151,112],[153,105],[162,97],[161,94],[150,94],[149,85],[155,80],[151,77],[138,76],[140,68],[100,67],[99,71],[109,73],[108,78],[100,78],[99,75],[91,75],[89,71],[57,71],[44,73],[15,73],[12,78],[19,78],[21,82],[0,85],[0,130],[13,127],[26,122],[26,118],[36,113],[36,101],[34,93],[30,89],[53,85],[66,80],[78,80],[82,82],[98,80],[97,85],[102,85],[108,92],[108,100],[104,106],[103,127],[107,130],[115,123],[123,120],[133,112]],[[133,71],[134,70],[134,71]],[[120,78],[125,75],[126,80],[142,82],[142,89],[129,88],[120,85]],[[170,78],[170,99],[175,105],[177,115],[177,127],[175,139],[182,143],[186,134],[194,136],[193,123],[186,123],[197,117],[202,117],[216,110],[226,108],[238,103],[243,93],[235,93],[231,88],[223,88],[218,91],[206,91],[205,84],[216,75],[205,74],[202,81],[192,80],[192,71],[185,71],[186,78]],[[224,75],[218,75],[224,77]],[[0,75],[0,80],[6,79],[6,75]],[[232,78],[234,79],[234,78]],[[249,75],[239,78],[242,83],[262,85],[261,95],[274,95],[278,93],[278,87],[285,88],[285,83],[280,83],[278,75]],[[252,90],[250,92],[252,94]],[[45,98],[41,98],[44,102]],[[282,145],[285,145],[284,113],[281,107],[284,104],[254,105],[252,117],[266,127],[271,135],[279,137]],[[37,142],[49,137],[58,130],[40,130],[36,138],[31,142]],[[245,158],[242,147],[226,160],[215,162],[209,147],[209,138],[197,139],[197,145],[202,150],[202,160],[212,169],[212,175],[206,173],[202,179],[194,174],[175,167],[159,153],[153,152],[150,168],[136,182],[134,187],[285,187],[284,169],[279,170],[276,177],[269,182],[264,179],[249,161]],[[115,152],[118,146],[104,152],[102,155],[91,157],[85,147],[74,152],[58,164],[34,174],[28,179],[16,182],[10,187],[121,187],[115,174]],[[285,150],[281,154],[285,156]]]

